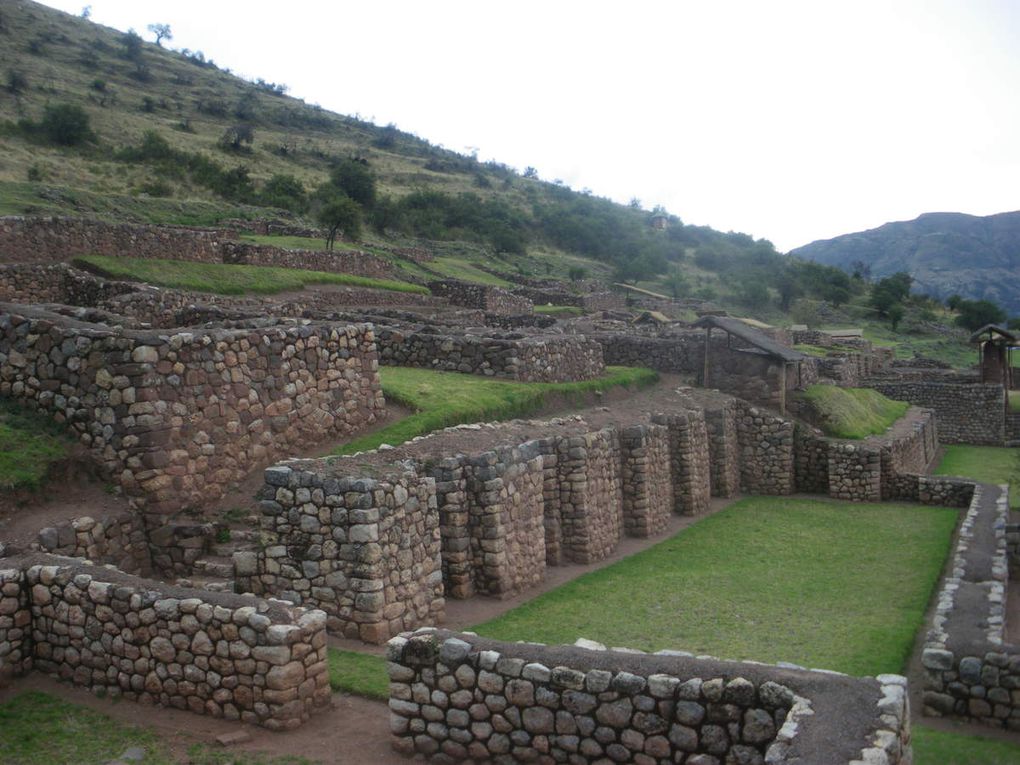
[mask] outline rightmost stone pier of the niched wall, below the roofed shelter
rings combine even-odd
[[[793,420],[743,401],[737,407],[741,490],[749,494],[793,494]]]

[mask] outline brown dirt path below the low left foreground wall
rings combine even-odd
[[[231,747],[232,752],[304,757],[314,762],[341,765],[397,765],[407,760],[390,749],[390,717],[387,705],[347,694],[335,694],[333,708],[315,715],[305,725],[289,732],[273,732],[253,725],[218,720],[178,709],[146,707],[132,702],[99,699],[88,691],[39,673],[30,674],[0,691],[0,703],[26,691],[42,691],[73,704],[102,712],[130,725],[158,734],[182,763],[195,744],[216,747],[216,736],[247,731],[251,738]],[[239,759],[238,762],[243,762]]]

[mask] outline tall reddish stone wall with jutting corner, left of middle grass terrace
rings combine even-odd
[[[150,530],[259,463],[358,431],[384,404],[370,325],[158,335],[9,304],[0,396],[65,422]]]

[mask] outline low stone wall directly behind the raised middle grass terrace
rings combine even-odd
[[[602,349],[580,335],[437,334],[423,327],[379,327],[379,361],[394,366],[565,382],[605,374]]]

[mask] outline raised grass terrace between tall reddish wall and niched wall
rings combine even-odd
[[[333,453],[353,454],[380,444],[396,446],[463,422],[512,419],[532,414],[551,396],[577,397],[617,386],[644,387],[659,375],[651,369],[611,366],[599,379],[580,382],[511,382],[457,372],[403,366],[379,369],[388,400],[414,410],[392,425],[345,444]]]

